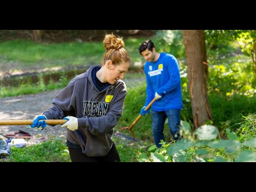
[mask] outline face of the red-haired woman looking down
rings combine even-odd
[[[128,71],[130,63],[121,63],[121,65],[113,65],[112,62],[107,64],[107,82],[110,84],[115,84],[119,79],[124,78],[124,74]]]

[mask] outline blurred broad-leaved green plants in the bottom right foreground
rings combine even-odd
[[[250,119],[251,120],[251,119]],[[253,118],[255,122],[255,118]],[[246,124],[251,122],[246,119]],[[181,124],[181,130],[188,130],[188,123]],[[253,125],[255,129],[255,124]],[[203,125],[195,130],[197,139],[193,138],[191,133],[190,139],[183,135],[183,139],[166,145],[163,142],[161,148],[155,145],[149,147],[150,156],[141,155],[141,162],[256,162],[256,138],[239,142],[235,140],[234,132],[227,130],[232,140],[218,140],[217,128],[212,125]],[[251,130],[248,130],[251,132]],[[182,133],[182,132],[181,132]],[[252,131],[252,134],[254,130]],[[236,135],[236,134],[235,134]],[[191,139],[192,138],[192,139]],[[156,149],[157,148],[157,149]]]

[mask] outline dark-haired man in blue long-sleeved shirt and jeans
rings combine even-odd
[[[164,122],[168,118],[169,129],[174,140],[180,138],[180,110],[183,108],[181,95],[180,70],[177,59],[169,53],[158,53],[151,40],[141,43],[139,52],[147,60],[144,71],[147,79],[146,103],[140,115],[149,114],[145,110],[151,100],[157,100],[151,106],[152,128],[156,146],[164,139]]]

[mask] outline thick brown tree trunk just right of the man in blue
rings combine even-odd
[[[204,30],[182,30],[188,67],[188,85],[194,129],[212,120],[207,93],[207,71]]]

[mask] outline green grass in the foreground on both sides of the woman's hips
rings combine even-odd
[[[147,141],[134,142],[117,136],[114,136],[114,142],[121,162],[138,162],[142,153],[148,154],[147,146],[151,145]],[[0,158],[0,162],[71,162],[66,140],[55,137],[37,145],[11,147],[10,151],[11,155]]]

